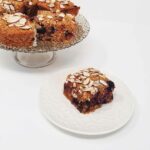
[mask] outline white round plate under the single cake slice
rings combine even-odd
[[[113,101],[95,112],[81,114],[63,95],[65,78],[75,71],[62,70],[46,80],[40,91],[42,114],[61,129],[82,135],[103,135],[123,127],[130,120],[135,107],[135,98],[128,87],[117,77],[106,73],[115,82]]]

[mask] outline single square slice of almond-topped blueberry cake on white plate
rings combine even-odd
[[[113,100],[115,84],[94,68],[67,76],[64,95],[81,112],[89,113]]]

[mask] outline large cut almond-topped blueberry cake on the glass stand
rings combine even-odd
[[[31,48],[39,41],[69,43],[79,9],[70,0],[0,0],[0,44]]]

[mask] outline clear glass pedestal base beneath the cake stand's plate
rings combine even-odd
[[[16,52],[15,60],[18,64],[29,68],[41,68],[50,65],[55,58],[55,52],[23,53]]]

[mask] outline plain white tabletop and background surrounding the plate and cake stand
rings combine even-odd
[[[91,25],[80,44],[57,53],[46,68],[16,64],[0,51],[0,150],[149,150],[150,149],[150,1],[76,0]],[[122,130],[84,138],[49,124],[38,108],[43,79],[67,67],[92,66],[121,78],[137,99],[134,117]]]

